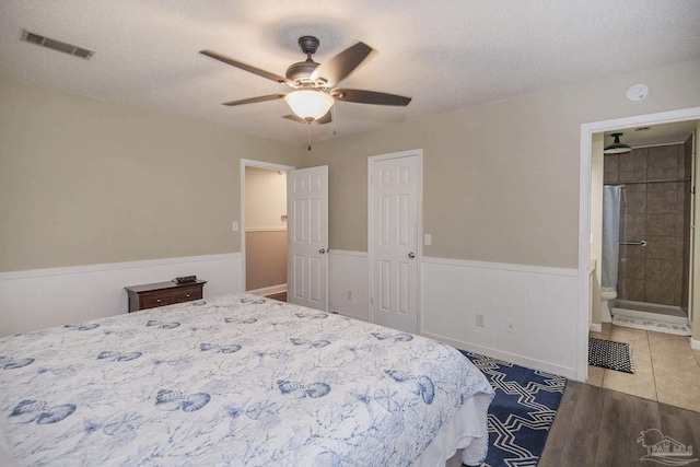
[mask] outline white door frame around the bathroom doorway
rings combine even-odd
[[[591,254],[591,159],[593,135],[611,130],[643,127],[649,125],[673,124],[700,120],[700,107],[681,108],[655,114],[635,115],[581,125],[581,159],[579,165],[579,310],[576,315],[576,380],[585,382],[588,377],[588,258]],[[696,136],[696,139],[698,137]],[[693,183],[697,185],[697,180]],[[697,209],[697,208],[696,208]],[[698,220],[696,219],[696,222]],[[693,258],[700,255],[700,245],[695,245]],[[697,261],[691,261],[697,262]],[[698,271],[696,271],[697,273]],[[695,296],[693,302],[699,303]],[[689,307],[693,308],[692,303]],[[700,308],[700,307],[699,307]],[[695,326],[693,326],[695,327]],[[698,340],[700,336],[693,336]]]

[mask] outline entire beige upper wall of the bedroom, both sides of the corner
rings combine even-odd
[[[625,91],[638,82],[650,96],[630,104]],[[424,151],[424,255],[575,268],[581,124],[700,106],[698,82],[695,60],[307,152],[0,79],[0,271],[237,252],[241,157],[328,164],[329,246],[364,252],[366,159],[413,148]]]

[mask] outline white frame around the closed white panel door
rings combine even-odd
[[[372,208],[372,195],[374,191],[372,184],[372,173],[374,170],[374,164],[378,161],[386,161],[390,159],[400,159],[400,157],[409,157],[416,156],[416,219],[418,221],[417,225],[417,245],[416,245],[416,260],[417,260],[417,281],[418,281],[418,299],[416,300],[416,313],[418,319],[418,334],[422,334],[423,331],[423,275],[422,275],[422,259],[423,259],[423,150],[422,149],[411,149],[408,151],[399,151],[392,152],[388,154],[380,154],[368,157],[368,268],[369,268],[369,288],[370,292],[369,304],[370,304],[370,313],[368,315],[370,323],[374,323],[374,277],[373,277],[373,267],[374,264],[374,247],[372,246],[372,238],[374,237],[374,209]]]

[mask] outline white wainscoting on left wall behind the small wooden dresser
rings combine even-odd
[[[205,297],[241,292],[242,255],[190,256],[145,261],[0,273],[0,337],[127,313],[127,285],[195,275]]]

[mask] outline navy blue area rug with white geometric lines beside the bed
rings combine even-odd
[[[536,466],[567,387],[567,378],[460,351],[483,372],[495,397],[489,407],[485,467]]]

